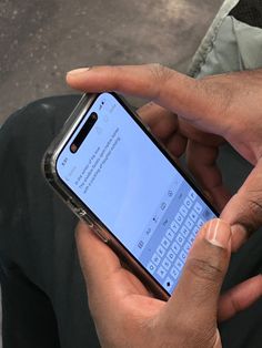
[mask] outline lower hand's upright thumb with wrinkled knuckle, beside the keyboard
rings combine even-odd
[[[222,219],[205,224],[188,257],[179,285],[170,299],[170,310],[194,327],[216,323],[218,300],[231,249],[230,225]],[[184,309],[187,306],[187,310]],[[175,310],[175,311],[174,311]],[[191,323],[192,324],[192,323]]]

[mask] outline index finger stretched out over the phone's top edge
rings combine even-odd
[[[68,73],[67,82],[84,92],[115,91],[152,100],[215,134],[225,127],[226,120],[214,117],[222,109],[218,93],[160,64],[77,69]]]

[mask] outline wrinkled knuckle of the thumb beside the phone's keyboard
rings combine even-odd
[[[199,279],[212,283],[216,283],[223,276],[219,263],[211,262],[211,259],[189,258],[188,269]]]

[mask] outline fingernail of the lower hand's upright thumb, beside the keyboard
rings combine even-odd
[[[226,249],[231,238],[231,228],[220,218],[212,219],[206,226],[205,239],[212,245]]]

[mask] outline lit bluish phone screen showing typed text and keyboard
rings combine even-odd
[[[72,152],[92,113],[95,123]],[[216,215],[113,94],[95,99],[57,172],[171,295],[198,231]]]

